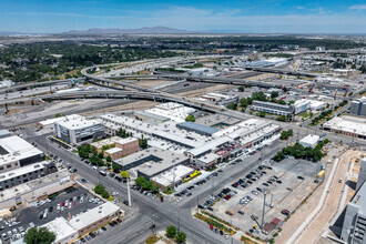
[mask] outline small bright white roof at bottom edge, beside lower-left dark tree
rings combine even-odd
[[[78,231],[62,216],[43,224],[41,227],[47,227],[50,232],[55,234],[54,243],[59,243],[59,240],[62,241],[78,233]]]

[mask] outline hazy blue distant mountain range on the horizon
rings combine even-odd
[[[177,33],[192,33],[187,30],[179,30],[167,27],[143,27],[136,29],[89,29],[85,31],[67,31],[61,34],[177,34]]]

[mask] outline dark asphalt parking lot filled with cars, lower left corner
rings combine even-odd
[[[77,187],[55,196],[53,200],[45,200],[33,206],[17,210],[13,212],[14,217],[0,221],[1,240],[9,243],[10,238],[18,240],[23,236],[27,228],[31,226],[41,226],[60,216],[68,220],[95,207],[100,203],[102,200],[96,200],[87,190]]]

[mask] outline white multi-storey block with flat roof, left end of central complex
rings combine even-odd
[[[104,135],[104,128],[101,122],[87,120],[84,116],[65,118],[55,122],[54,126],[58,138],[72,144],[89,143]]]

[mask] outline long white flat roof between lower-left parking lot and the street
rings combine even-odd
[[[119,210],[120,207],[118,205],[113,204],[112,202],[106,202],[71,218],[69,223],[73,228],[79,231],[103,217],[114,214]]]

